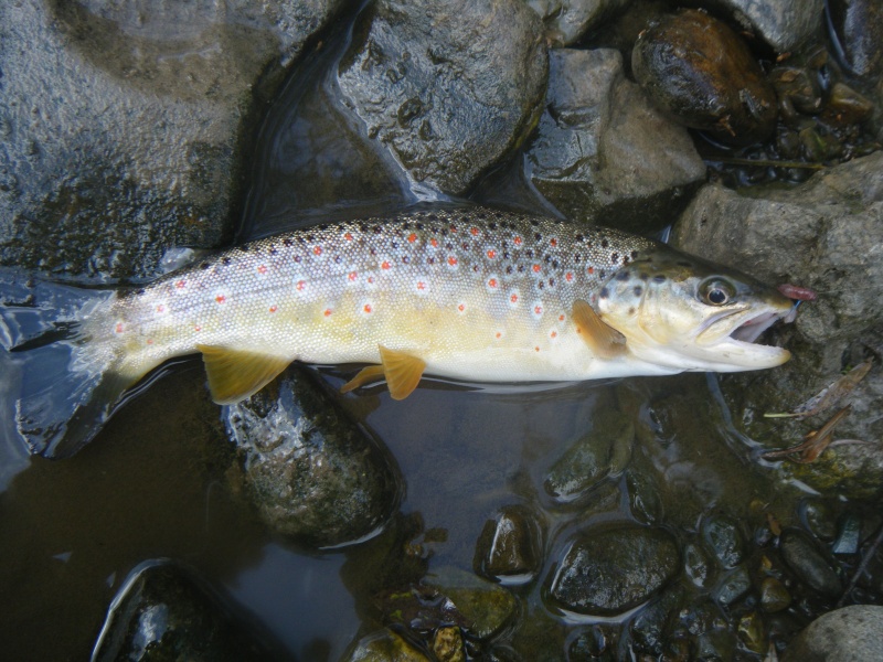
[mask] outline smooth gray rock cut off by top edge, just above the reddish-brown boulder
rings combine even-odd
[[[792,51],[818,33],[825,12],[825,0],[712,0],[706,6],[730,12],[777,53]]]

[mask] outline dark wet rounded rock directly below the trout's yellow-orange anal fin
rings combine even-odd
[[[395,460],[299,366],[223,409],[245,494],[274,532],[315,547],[380,531],[398,506]]]

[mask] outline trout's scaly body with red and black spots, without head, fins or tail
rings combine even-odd
[[[492,381],[535,380],[551,365],[560,378],[579,378],[574,352],[587,346],[571,319],[574,300],[592,301],[614,271],[655,246],[490,210],[341,222],[170,274],[93,324],[125,338],[132,374],[198,344],[308,363],[376,363],[382,344],[442,376],[481,369]]]

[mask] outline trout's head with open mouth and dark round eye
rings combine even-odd
[[[600,319],[629,353],[666,370],[738,372],[781,365],[788,350],[758,344],[792,302],[758,280],[660,249],[619,269],[597,296]]]

